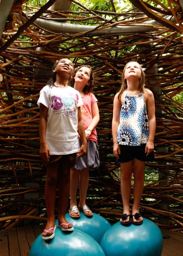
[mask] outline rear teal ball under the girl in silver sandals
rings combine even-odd
[[[65,218],[68,222],[73,224],[74,229],[85,232],[100,244],[104,233],[109,229],[109,227],[111,227],[109,221],[95,213],[93,213],[93,216],[88,217],[80,211],[80,215],[81,216],[79,218],[72,218],[69,213],[67,213]],[[57,220],[55,224],[58,224]]]

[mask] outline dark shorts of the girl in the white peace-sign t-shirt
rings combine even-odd
[[[43,165],[45,167],[56,167],[59,166],[67,166],[68,168],[73,167],[76,164],[76,153],[72,153],[69,155],[51,155],[49,161],[43,161]]]

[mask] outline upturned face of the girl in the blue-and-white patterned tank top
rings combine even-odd
[[[141,78],[141,67],[137,62],[129,62],[126,65],[124,78],[128,80],[130,77]]]

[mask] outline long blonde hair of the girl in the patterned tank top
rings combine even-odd
[[[130,62],[134,62],[134,61],[130,61]],[[130,62],[128,62],[128,63],[125,65],[124,70],[123,70],[123,73],[122,73],[122,75],[121,75],[121,87],[119,88],[119,91],[118,91],[118,100],[119,100],[119,101],[120,101],[120,99],[121,99],[121,95],[123,94],[123,92],[124,92],[125,89],[127,88],[127,81],[126,81],[126,79],[125,79],[125,77],[124,77],[124,73],[125,73],[125,70],[126,70],[127,65],[128,65]],[[136,62],[136,63],[139,65],[139,68],[140,68],[140,70],[141,70],[141,78],[139,79],[139,88],[138,88],[138,90],[145,96],[145,90],[144,90],[144,89],[145,89],[145,88],[144,88],[144,86],[145,86],[145,73],[144,73],[144,71],[143,71],[141,65],[140,65],[138,62]]]

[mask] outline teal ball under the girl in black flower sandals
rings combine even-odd
[[[100,246],[106,256],[161,256],[163,236],[159,227],[143,218],[139,226],[118,221],[103,235]]]

